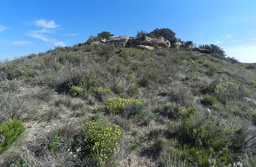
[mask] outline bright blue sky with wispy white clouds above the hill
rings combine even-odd
[[[108,31],[135,36],[169,28],[177,38],[214,44],[240,62],[256,62],[256,1],[0,1],[0,59],[73,46]]]

